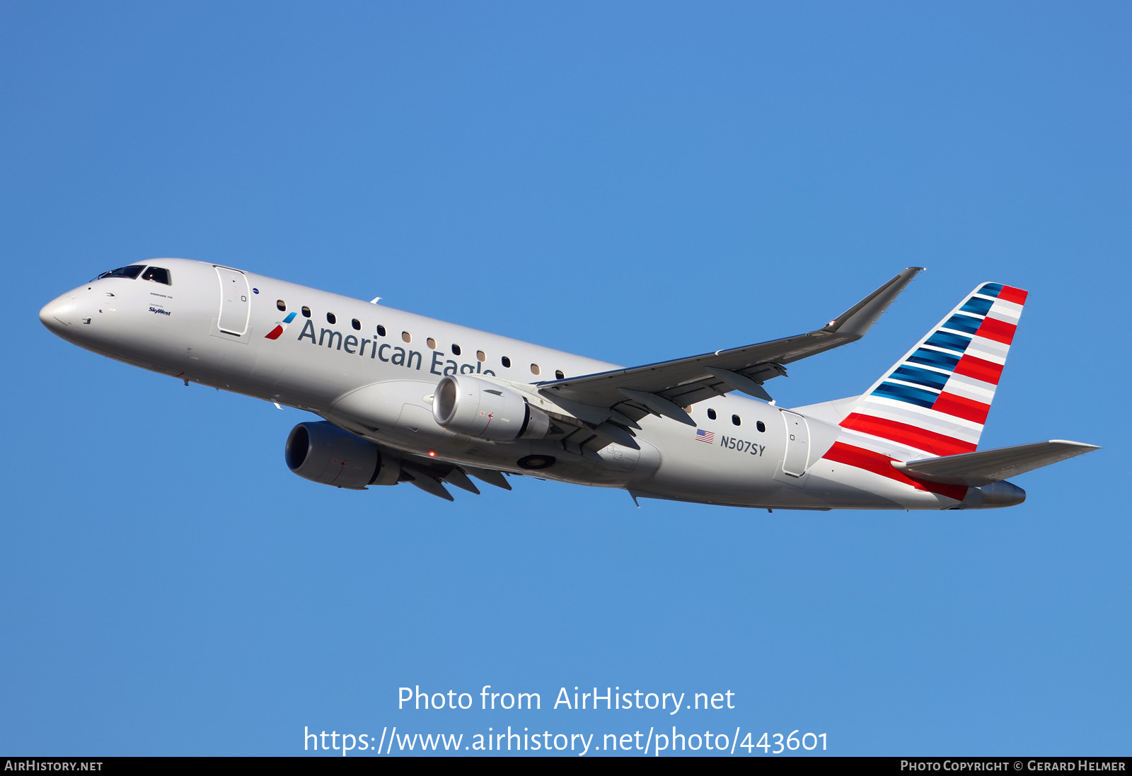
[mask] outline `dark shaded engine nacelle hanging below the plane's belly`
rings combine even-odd
[[[383,456],[372,442],[333,423],[294,426],[284,455],[288,468],[300,477],[335,488],[395,485],[401,476],[398,460]]]

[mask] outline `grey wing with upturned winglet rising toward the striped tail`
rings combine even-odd
[[[650,412],[691,424],[681,407],[739,390],[770,400],[762,383],[783,364],[860,339],[923,267],[909,267],[827,325],[783,339],[538,383],[551,400],[609,407],[631,421]],[[615,421],[619,420],[616,416]]]

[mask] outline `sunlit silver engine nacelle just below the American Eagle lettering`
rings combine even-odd
[[[455,433],[509,442],[541,439],[550,417],[517,391],[471,374],[440,379],[432,396],[432,419]]]

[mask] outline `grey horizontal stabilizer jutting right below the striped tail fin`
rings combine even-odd
[[[892,465],[918,480],[977,488],[1099,449],[1096,445],[1054,439],[1048,442],[962,452],[957,456],[909,462],[894,460]]]

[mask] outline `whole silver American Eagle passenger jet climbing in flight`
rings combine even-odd
[[[305,409],[284,447],[312,482],[409,482],[453,501],[504,474],[773,509],[1021,503],[1007,477],[1099,449],[978,450],[1027,292],[983,283],[859,396],[780,407],[787,364],[860,339],[921,267],[825,326],[623,368],[206,261],[98,275],[40,320],[143,369]],[[743,394],[745,396],[740,396]]]

